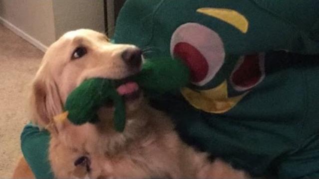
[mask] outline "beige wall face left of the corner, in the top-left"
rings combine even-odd
[[[56,39],[51,0],[0,0],[0,22],[43,48]]]

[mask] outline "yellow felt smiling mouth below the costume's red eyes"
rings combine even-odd
[[[185,99],[195,108],[210,113],[224,113],[233,108],[248,92],[235,97],[228,97],[227,81],[214,89],[194,91],[181,89]]]

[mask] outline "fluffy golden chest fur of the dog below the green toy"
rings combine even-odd
[[[122,134],[107,127],[109,118],[102,119],[105,125],[66,127],[51,138],[49,158],[56,177],[84,177],[73,165],[81,155],[90,158],[90,178],[195,177],[206,163],[206,155],[184,145],[170,119],[157,110],[136,111]]]

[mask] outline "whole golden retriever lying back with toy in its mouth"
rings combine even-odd
[[[45,53],[32,85],[32,118],[51,134],[49,161],[56,178],[248,178],[221,160],[184,144],[168,116],[151,108],[137,83],[142,52],[112,44],[102,33],[79,29],[65,33]],[[84,80],[118,81],[125,99],[124,132],[113,129],[113,108],[98,111],[99,122],[74,125],[54,120],[68,94]]]

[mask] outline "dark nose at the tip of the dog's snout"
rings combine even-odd
[[[139,48],[129,48],[122,53],[123,61],[133,68],[139,68],[142,63],[142,50]]]

